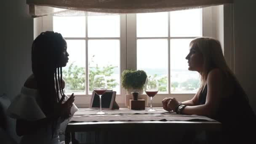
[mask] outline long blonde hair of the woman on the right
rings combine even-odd
[[[199,89],[203,88],[203,85],[207,82],[208,73],[214,68],[219,68],[226,76],[235,78],[224,59],[221,44],[218,40],[211,37],[197,37],[190,42],[189,47],[196,48],[203,56],[203,70],[200,73]]]

